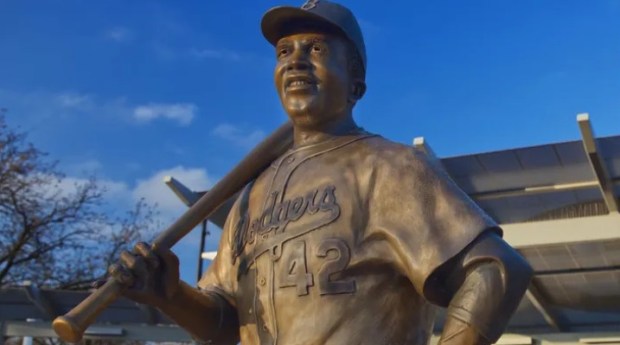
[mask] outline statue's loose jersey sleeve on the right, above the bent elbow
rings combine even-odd
[[[386,150],[382,159],[375,168],[368,229],[385,239],[418,293],[444,305],[446,296],[431,274],[485,230],[501,235],[501,229],[438,161],[413,148]]]

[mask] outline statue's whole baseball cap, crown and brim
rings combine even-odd
[[[362,30],[348,8],[326,0],[308,0],[301,7],[278,6],[265,13],[261,29],[267,41],[275,46],[286,34],[285,28],[297,23],[323,25],[342,34],[353,43],[366,70],[366,46]]]

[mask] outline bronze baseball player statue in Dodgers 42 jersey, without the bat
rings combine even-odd
[[[531,269],[435,162],[353,120],[366,90],[354,15],[323,0],[262,19],[294,145],[241,192],[198,288],[144,243],[110,274],[201,343],[491,344]],[[130,283],[131,282],[131,283]]]

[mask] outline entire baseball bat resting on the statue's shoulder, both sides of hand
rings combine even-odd
[[[168,229],[159,234],[153,241],[152,248],[171,248],[228,198],[233,196],[248,182],[258,177],[271,162],[286,152],[292,146],[292,143],[293,126],[290,122],[287,122],[258,144],[222,180],[216,183],[208,193],[203,195]],[[120,296],[124,288],[116,280],[109,279],[68,313],[54,319],[52,323],[54,331],[64,341],[79,341],[82,339],[86,328],[95,321],[97,316],[107,306]]]

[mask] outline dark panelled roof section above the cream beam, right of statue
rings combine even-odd
[[[620,137],[582,140],[441,159],[454,181],[502,224],[617,212]]]

